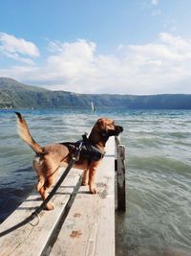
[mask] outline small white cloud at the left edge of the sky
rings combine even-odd
[[[0,55],[32,64],[31,58],[39,57],[35,44],[14,35],[0,33]],[[30,58],[26,58],[26,56]]]

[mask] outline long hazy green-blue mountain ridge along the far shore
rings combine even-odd
[[[191,94],[118,95],[51,91],[0,78],[0,108],[191,109]]]

